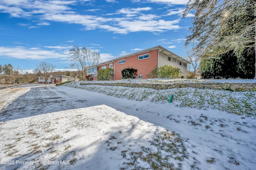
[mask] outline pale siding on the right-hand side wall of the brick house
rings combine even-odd
[[[168,57],[171,57],[169,55],[166,55],[164,53],[159,53],[159,61],[158,61],[158,67],[164,66],[164,65],[171,65],[173,67],[178,67],[181,70],[181,75],[186,78],[187,76],[187,64],[183,63],[182,61],[177,61],[176,58],[171,57],[171,61],[168,60]],[[180,62],[182,62],[182,65],[180,65]]]

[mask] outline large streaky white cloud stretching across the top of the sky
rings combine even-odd
[[[105,16],[102,17],[78,14],[68,6],[76,3],[78,2],[75,0],[32,2],[29,0],[3,0],[0,1],[0,11],[15,17],[38,18],[41,21],[37,24],[38,26],[49,25],[49,22],[46,21],[65,22],[68,24],[80,24],[84,26],[84,30],[100,29],[116,34],[128,34],[130,32],[153,32],[153,34],[157,34],[158,32],[181,28],[178,26],[180,20],[159,20],[158,18],[161,18],[161,16],[143,14],[145,11],[152,10],[151,7],[122,8],[117,10],[115,14],[124,14],[124,16],[114,18],[109,15],[102,15]],[[29,29],[37,28],[36,26],[29,27],[27,24],[20,25]]]

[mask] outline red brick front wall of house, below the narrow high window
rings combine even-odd
[[[149,57],[147,59],[140,59],[138,60],[138,55],[134,55],[131,57],[125,58],[125,63],[118,64],[118,60],[115,61],[116,70],[115,70],[115,80],[120,80],[122,76],[122,69],[125,68],[134,68],[137,69],[137,74],[142,75],[143,79],[147,79],[146,77],[150,71],[154,69],[154,67],[157,65],[158,60],[158,49],[154,51],[147,52],[149,53]],[[146,54],[141,53],[139,55]],[[122,60],[122,59],[120,59]],[[138,79],[138,76],[136,77]]]

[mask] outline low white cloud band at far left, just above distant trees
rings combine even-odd
[[[54,50],[48,51],[38,47],[0,47],[0,56],[16,59],[30,59],[30,60],[42,60],[42,59],[66,59],[68,55],[63,52],[57,52]]]

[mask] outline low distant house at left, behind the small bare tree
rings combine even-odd
[[[63,83],[66,81],[75,81],[75,78],[67,75],[51,75],[50,79],[47,81],[47,84]],[[39,77],[38,83],[45,84],[44,77]]]

